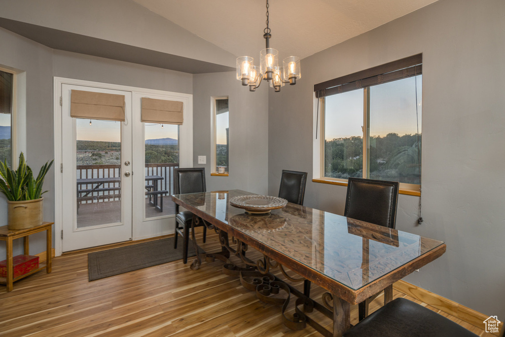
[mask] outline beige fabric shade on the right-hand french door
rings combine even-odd
[[[182,102],[142,98],[141,120],[144,123],[182,125],[182,113]]]

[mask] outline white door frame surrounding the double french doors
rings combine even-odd
[[[93,81],[84,81],[72,78],[64,77],[54,77],[54,135],[55,135],[55,255],[60,256],[62,254],[62,238],[61,233],[63,230],[63,198],[62,198],[62,188],[63,188],[63,174],[61,171],[62,167],[62,106],[60,105],[62,97],[62,84],[74,84],[83,86],[92,86],[104,89],[114,89],[122,91],[131,91],[133,95],[169,95],[170,97],[180,100],[184,103],[184,124],[181,125],[181,137],[179,139],[179,166],[180,167],[192,167],[193,166],[193,95],[188,93],[171,92],[163,90],[154,90],[146,88],[131,87],[118,84],[109,84]],[[135,118],[135,117],[133,117]],[[133,142],[136,143],[138,140],[137,132],[133,132]],[[143,135],[142,135],[143,136]],[[138,155],[134,146],[134,156]],[[184,155],[181,155],[184,154]],[[135,198],[135,196],[134,196]],[[134,201],[135,202],[135,201]],[[135,208],[134,208],[135,209]],[[135,211],[134,211],[135,212]],[[132,214],[132,219],[136,218],[136,214]],[[141,236],[140,232],[135,228],[136,224],[133,223],[133,240],[145,237],[154,237],[161,235],[162,233],[151,231],[147,234],[144,232]],[[173,230],[173,228],[172,228]]]

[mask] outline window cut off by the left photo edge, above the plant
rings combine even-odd
[[[14,74],[0,70],[0,160],[12,167]]]

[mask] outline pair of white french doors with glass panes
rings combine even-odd
[[[55,89],[57,254],[172,233],[174,169],[192,166],[192,96],[60,78]],[[71,90],[124,95],[125,121],[72,118]],[[142,98],[183,102],[183,125],[142,123]]]

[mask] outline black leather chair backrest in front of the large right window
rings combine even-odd
[[[397,181],[349,178],[344,216],[394,228]]]

